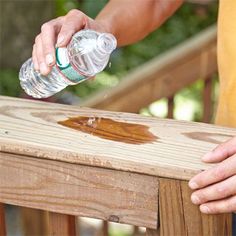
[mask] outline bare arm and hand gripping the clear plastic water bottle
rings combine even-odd
[[[181,5],[183,0],[110,0],[95,20],[79,10],[51,20],[41,27],[33,46],[36,70],[46,75],[55,64],[55,44],[65,47],[72,35],[83,28],[110,32],[118,46],[141,40],[158,28]]]

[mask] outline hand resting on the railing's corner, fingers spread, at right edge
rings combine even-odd
[[[194,176],[189,187],[194,204],[206,214],[236,211],[236,137],[220,144],[203,158],[205,162],[220,162]]]

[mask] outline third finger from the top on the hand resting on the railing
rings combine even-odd
[[[200,205],[213,200],[221,200],[236,194],[236,176],[232,176],[220,183],[195,191],[191,200]]]

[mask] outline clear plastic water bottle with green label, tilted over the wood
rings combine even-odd
[[[81,30],[67,47],[56,48],[56,65],[47,76],[35,71],[32,59],[28,59],[20,69],[21,87],[32,97],[50,97],[101,72],[115,48],[112,34]]]

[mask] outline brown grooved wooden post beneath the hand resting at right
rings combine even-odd
[[[190,200],[186,181],[159,179],[161,236],[232,235],[231,214],[205,215]]]

